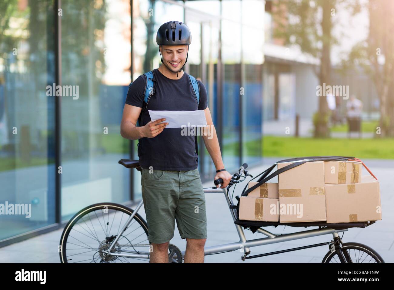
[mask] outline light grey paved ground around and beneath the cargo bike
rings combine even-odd
[[[280,158],[266,158],[264,159],[264,166],[251,168],[249,172],[255,176],[264,169],[272,165],[275,161],[286,159]],[[385,262],[394,262],[394,211],[391,210],[394,206],[393,197],[393,176],[394,176],[394,162],[386,160],[365,160],[368,167],[374,172],[375,176],[379,178],[381,189],[381,202],[383,220],[377,221],[374,225],[368,228],[351,228],[344,232],[344,242],[358,242],[366,244],[375,249],[385,260]],[[364,171],[363,174],[365,174]],[[274,180],[273,180],[274,181]],[[277,180],[275,180],[277,181]],[[242,184],[242,183],[241,183]],[[245,185],[239,184],[236,187],[234,196],[240,195]],[[245,183],[246,184],[246,183]],[[211,186],[212,183],[205,183],[204,187]],[[234,198],[235,200],[235,198]],[[236,228],[232,221],[227,202],[223,194],[208,193],[206,194],[206,210],[208,216],[208,239],[206,246],[220,245],[225,243],[232,243],[239,241]],[[139,211],[145,218],[143,208]],[[284,234],[290,232],[297,232],[307,230],[306,228],[292,228],[289,226],[280,226],[274,228],[273,226],[266,227],[266,230],[275,234]],[[0,248],[0,262],[41,262],[41,263],[58,263],[58,244],[62,230],[56,230],[48,234],[42,234],[35,238],[28,239],[13,245]],[[262,234],[252,234],[249,230],[245,231],[248,239],[265,238]],[[340,233],[342,236],[342,233]],[[318,236],[313,238],[306,238],[302,240],[288,241],[284,243],[265,245],[251,248],[251,255],[267,253],[271,251],[279,251],[289,249],[292,247],[300,247],[303,245],[310,245],[314,243],[322,243],[330,241],[332,235]],[[171,240],[182,251],[186,248],[186,241],[182,240],[175,227],[175,236]],[[245,261],[245,263],[275,263],[275,262],[298,262],[310,263],[322,261],[323,256],[329,251],[328,246],[315,247],[311,249],[304,249],[283,254],[276,254],[262,258],[255,258]],[[236,262],[242,263],[240,251],[233,251],[229,253],[222,253],[216,255],[209,255],[205,257],[205,262],[212,263],[227,263]]]

